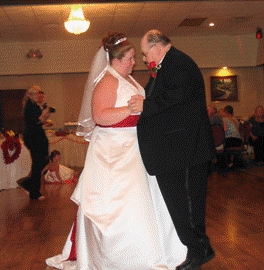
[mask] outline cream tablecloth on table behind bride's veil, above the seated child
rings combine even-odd
[[[61,164],[68,167],[83,167],[89,143],[73,134],[57,137],[48,136],[49,152],[58,150],[61,153]]]

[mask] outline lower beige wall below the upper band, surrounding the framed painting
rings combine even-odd
[[[219,69],[201,69],[206,87],[207,103],[211,103],[210,76],[219,75]],[[262,67],[242,67],[228,70],[226,75],[237,75],[238,102],[215,102],[216,107],[230,104],[234,107],[235,115],[246,118],[253,112],[258,104],[264,105],[264,86]],[[148,72],[136,71],[134,77],[145,85]],[[54,74],[54,75],[23,75],[0,76],[1,89],[22,89],[31,84],[38,84],[46,93],[46,101],[50,106],[56,107],[52,114],[55,128],[62,128],[64,122],[77,121],[85,82],[86,73]]]

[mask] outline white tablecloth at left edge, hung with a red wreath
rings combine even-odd
[[[0,141],[1,145],[2,141]],[[25,145],[21,144],[21,153],[13,163],[5,164],[3,151],[0,149],[0,190],[18,187],[16,181],[30,173],[31,157]]]

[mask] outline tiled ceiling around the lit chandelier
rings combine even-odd
[[[129,37],[142,37],[150,29],[159,29],[168,36],[247,35],[255,34],[257,28],[264,31],[264,1],[108,2],[82,5],[91,25],[81,35],[70,34],[64,28],[69,3],[1,4],[0,42],[97,39],[109,30],[123,31]],[[186,22],[189,26],[181,26]],[[215,26],[209,27],[210,22]],[[190,26],[192,23],[195,25]]]

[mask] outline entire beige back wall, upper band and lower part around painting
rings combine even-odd
[[[140,40],[131,39],[136,45],[137,66],[134,77],[142,84],[148,80],[148,72],[142,63]],[[207,102],[210,101],[210,76],[219,75],[222,66],[228,66],[228,74],[238,76],[238,102],[235,115],[246,118],[258,104],[264,104],[263,41],[254,35],[172,37],[178,49],[189,54],[202,70]],[[57,111],[51,118],[55,128],[65,122],[77,121],[83,91],[92,58],[100,40],[0,44],[0,90],[23,89],[37,84],[46,93],[46,100]],[[28,59],[27,52],[39,48],[42,59]],[[216,102],[224,107],[226,102]]]

